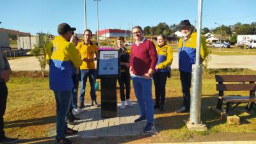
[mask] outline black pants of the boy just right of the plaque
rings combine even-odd
[[[131,76],[130,73],[125,71],[121,73],[121,77],[118,77],[118,83],[120,86],[120,98],[122,101],[126,99],[130,99],[130,92],[131,92]],[[125,87],[124,87],[125,86]],[[124,94],[125,88],[125,94]]]

